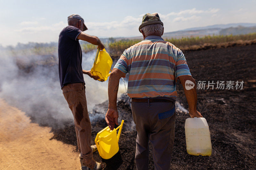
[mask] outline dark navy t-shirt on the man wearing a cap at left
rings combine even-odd
[[[75,26],[67,26],[60,32],[58,54],[61,88],[70,83],[84,83],[82,50],[76,39],[81,32]]]

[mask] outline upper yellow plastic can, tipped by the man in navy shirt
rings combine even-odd
[[[99,50],[98,48],[91,73],[94,76],[99,76],[99,81],[106,81],[110,75],[112,64],[113,60],[105,48],[103,50]]]

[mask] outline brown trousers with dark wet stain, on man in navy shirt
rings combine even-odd
[[[62,88],[68,107],[73,113],[78,151],[84,159],[92,159],[91,122],[87,111],[85,86],[73,83]]]

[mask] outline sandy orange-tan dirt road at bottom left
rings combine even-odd
[[[50,130],[0,99],[0,169],[79,169],[75,146],[49,140]]]

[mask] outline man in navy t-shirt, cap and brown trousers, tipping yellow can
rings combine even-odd
[[[58,46],[60,85],[74,115],[77,146],[80,152],[80,169],[104,169],[105,163],[96,162],[92,158],[91,122],[87,111],[83,73],[95,80],[98,77],[93,76],[90,70],[82,70],[82,50],[78,40],[98,45],[101,50],[104,45],[98,37],[85,34],[83,32],[85,30],[87,27],[84,19],[77,14],[72,14],[68,17],[68,26],[60,32]]]

